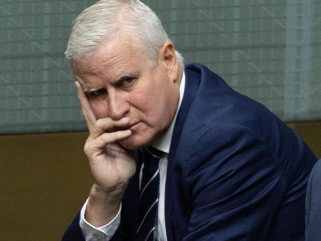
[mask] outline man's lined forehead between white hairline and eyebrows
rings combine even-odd
[[[92,76],[115,79],[120,74],[137,73],[148,65],[148,62],[131,40],[114,38],[101,42],[90,59],[74,62],[72,66],[75,75],[85,81]]]

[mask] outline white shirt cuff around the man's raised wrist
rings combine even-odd
[[[110,221],[108,224],[104,226],[96,228],[90,223],[88,223],[84,217],[88,199],[83,204],[80,211],[79,225],[80,225],[81,231],[86,241],[109,241],[112,238],[112,236],[115,234],[118,226],[120,225],[121,204],[120,204],[120,209],[118,210],[118,213],[116,214],[116,216],[112,221]]]

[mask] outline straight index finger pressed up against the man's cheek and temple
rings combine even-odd
[[[87,99],[86,94],[81,89],[80,83],[78,81],[76,81],[75,84],[77,86],[77,94],[78,94],[78,98],[80,100],[81,111],[82,111],[83,117],[86,120],[89,131],[91,131],[92,127],[94,126],[94,124],[97,121],[96,117],[91,110],[90,103]]]

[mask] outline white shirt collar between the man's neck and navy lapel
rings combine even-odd
[[[151,146],[153,146],[156,149],[161,150],[162,152],[167,153],[167,154],[169,153],[170,143],[171,143],[173,131],[174,131],[174,125],[176,122],[177,113],[179,111],[179,108],[181,107],[181,103],[182,103],[182,99],[183,99],[183,95],[184,95],[184,89],[185,89],[185,73],[183,71],[182,81],[179,85],[179,101],[178,101],[178,106],[177,106],[175,117],[174,117],[172,123],[170,124],[168,130],[165,132],[165,134],[163,134],[159,139],[155,140],[151,144]]]

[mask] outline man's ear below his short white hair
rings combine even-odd
[[[175,48],[172,42],[166,41],[161,47],[160,62],[166,68],[168,77],[172,81],[178,78],[179,64],[176,58]]]

